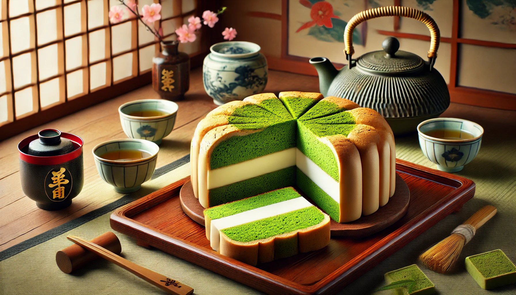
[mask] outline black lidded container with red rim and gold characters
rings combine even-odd
[[[44,129],[18,144],[20,177],[25,195],[44,210],[72,204],[83,189],[83,139],[57,129]]]

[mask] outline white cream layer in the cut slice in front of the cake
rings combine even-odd
[[[313,206],[303,197],[289,199],[279,203],[267,205],[264,207],[244,211],[234,215],[226,216],[220,219],[212,220],[210,227],[209,243],[212,249],[219,251],[220,247],[220,230],[233,226],[269,218],[279,214],[284,214]]]

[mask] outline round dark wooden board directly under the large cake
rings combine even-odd
[[[297,188],[296,190],[306,197],[302,191]],[[188,215],[193,221],[204,226],[204,208],[199,203],[199,199],[193,195],[191,181],[188,181],[183,185],[179,193],[179,197],[181,200],[181,207],[186,215]],[[307,199],[311,201],[310,198]],[[376,234],[378,231],[393,225],[396,221],[400,220],[405,213],[407,213],[409,200],[409,187],[407,187],[407,183],[405,183],[405,181],[396,174],[396,191],[385,206],[380,207],[375,213],[362,216],[353,222],[337,223],[334,220],[331,220],[331,236],[363,238]],[[313,202],[311,201],[311,203]]]

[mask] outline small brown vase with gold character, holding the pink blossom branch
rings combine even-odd
[[[163,51],[152,58],[152,88],[163,99],[183,100],[190,87],[190,57],[178,51],[178,41],[161,45]]]

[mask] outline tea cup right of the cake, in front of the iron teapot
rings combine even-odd
[[[432,130],[459,130],[472,138],[442,139],[427,135]],[[457,118],[434,118],[417,126],[421,150],[437,164],[437,169],[454,173],[464,168],[477,156],[482,143],[483,128],[475,122]]]

